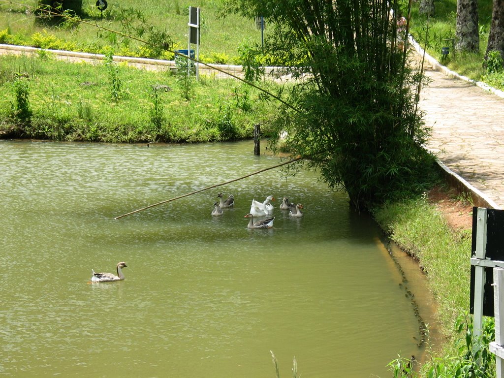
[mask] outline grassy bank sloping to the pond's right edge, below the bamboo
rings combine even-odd
[[[493,319],[485,319],[485,333],[478,340],[472,337],[468,316],[471,230],[450,227],[428,194],[387,203],[375,208],[373,216],[395,242],[418,259],[435,298],[436,326],[444,336],[443,340],[430,340],[433,345],[420,375],[408,367],[403,356],[392,363],[394,377],[495,376],[494,358],[488,353]]]

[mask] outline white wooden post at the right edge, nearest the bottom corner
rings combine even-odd
[[[495,354],[496,378],[504,378],[504,268],[493,268],[493,300],[495,341],[489,349]]]

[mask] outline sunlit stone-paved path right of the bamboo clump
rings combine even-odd
[[[431,82],[420,96],[432,128],[427,148],[491,205],[504,209],[504,98],[430,63],[424,68]]]

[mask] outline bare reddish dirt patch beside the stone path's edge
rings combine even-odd
[[[427,198],[429,203],[434,204],[444,214],[450,227],[455,230],[472,229],[473,205],[468,199],[458,196],[454,190],[446,190],[440,186],[434,187]]]

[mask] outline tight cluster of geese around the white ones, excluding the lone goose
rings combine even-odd
[[[217,197],[220,198],[220,203],[214,203],[214,210],[212,211],[212,216],[218,217],[224,214],[222,209],[230,208],[234,206],[234,196],[230,195],[226,200],[222,196],[222,193],[219,193]],[[252,204],[250,205],[250,212],[245,215],[245,218],[249,218],[247,228],[272,228],[273,221],[275,217],[271,217],[274,206],[271,204],[271,201],[275,201],[275,197],[268,196],[264,202],[252,200]],[[289,210],[289,216],[300,218],[303,216],[301,209],[303,205],[297,204],[294,205],[293,202],[289,202],[287,197],[282,199],[282,204],[280,205],[280,210]],[[258,221],[254,221],[254,217],[268,217],[266,219],[261,219]]]

